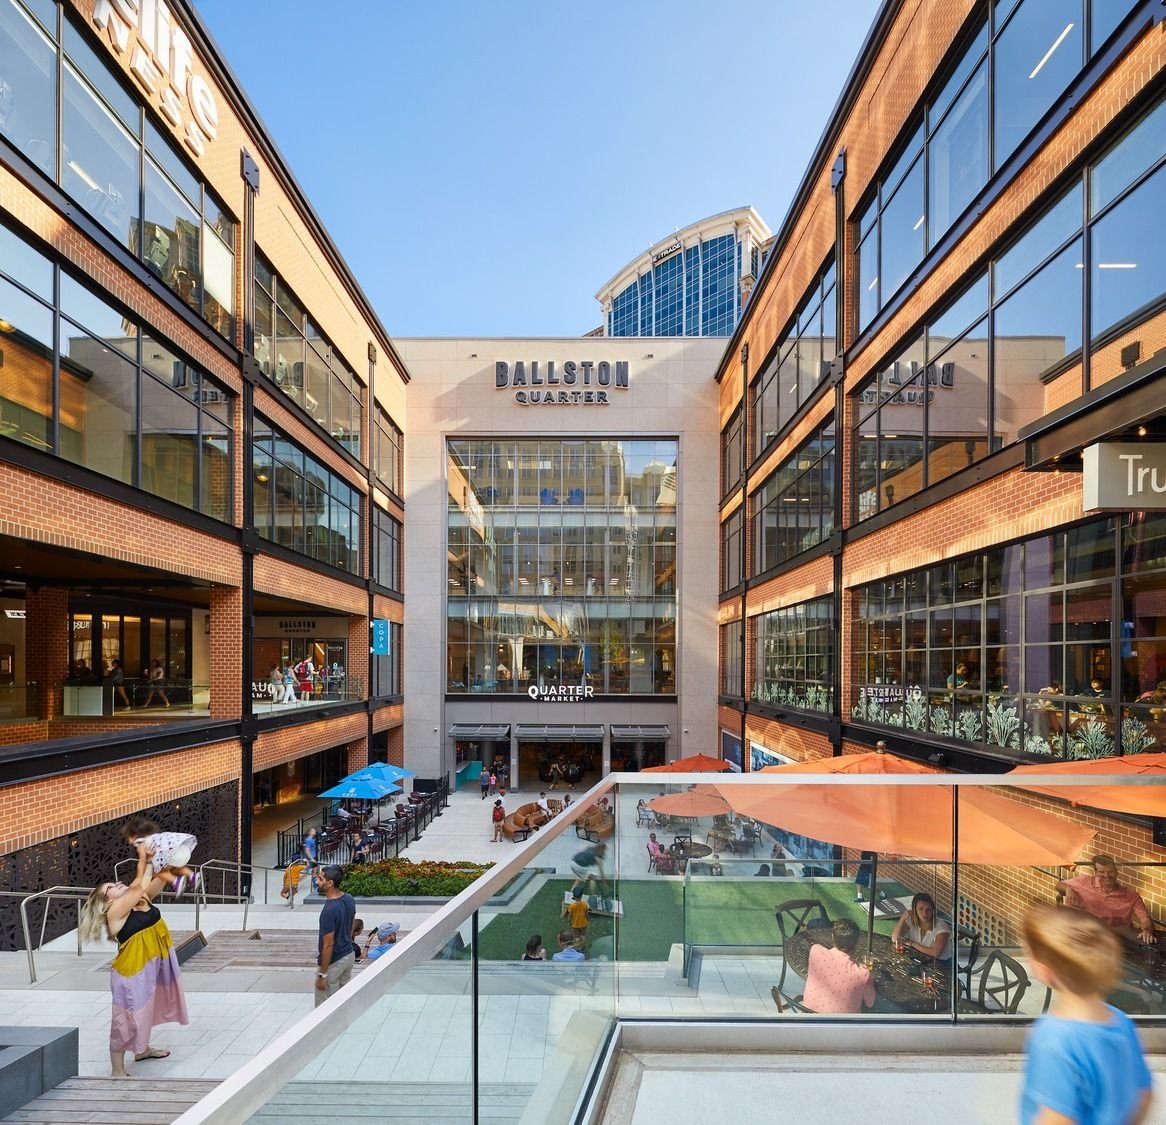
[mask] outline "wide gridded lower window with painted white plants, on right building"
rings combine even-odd
[[[1164,540],[1137,513],[964,556],[953,603],[933,571],[926,626],[899,596],[922,571],[861,588],[851,718],[1061,758],[1166,747]]]

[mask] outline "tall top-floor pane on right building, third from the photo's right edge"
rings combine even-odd
[[[927,147],[928,234],[934,246],[988,182],[988,63]]]

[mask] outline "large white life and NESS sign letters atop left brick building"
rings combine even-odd
[[[196,156],[218,135],[218,104],[166,0],[97,0],[93,26]],[[128,61],[128,62],[127,62]]]

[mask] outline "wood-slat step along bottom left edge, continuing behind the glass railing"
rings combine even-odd
[[[23,1125],[170,1125],[216,1085],[201,1078],[69,1078],[2,1120]],[[483,1084],[480,1117],[497,1125],[517,1123],[533,1090],[533,1084],[524,1083]],[[471,1112],[468,1082],[352,1080],[293,1082],[251,1120],[336,1125],[342,1113],[346,1120],[462,1125],[470,1122]]]

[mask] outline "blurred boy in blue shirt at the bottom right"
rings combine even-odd
[[[1133,1022],[1104,1000],[1122,964],[1118,937],[1084,910],[1042,903],[1025,915],[1023,940],[1032,975],[1053,990],[1028,1035],[1023,1125],[1145,1122],[1150,1068]]]

